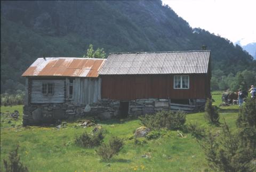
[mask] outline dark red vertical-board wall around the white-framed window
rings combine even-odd
[[[173,89],[174,75],[101,76],[102,98],[205,99],[210,93],[210,77],[189,75],[189,89]]]

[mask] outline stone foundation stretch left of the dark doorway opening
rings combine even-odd
[[[119,101],[101,99],[90,104],[90,111],[85,112],[85,105],[74,103],[29,104],[23,107],[23,125],[54,124],[58,119],[74,119],[93,115],[106,120],[115,118],[119,113]]]

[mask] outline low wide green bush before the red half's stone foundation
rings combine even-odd
[[[155,114],[146,114],[139,117],[141,124],[150,129],[167,128],[182,129],[186,122],[186,114],[182,111],[159,111]]]

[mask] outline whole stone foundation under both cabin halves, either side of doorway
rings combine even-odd
[[[157,111],[179,110],[196,111],[197,105],[177,105],[171,103],[170,99],[138,99],[129,101],[129,116],[141,114],[153,114]],[[200,102],[200,101],[199,101]],[[201,100],[204,105],[205,101]],[[202,106],[202,105],[201,105]],[[87,115],[101,120],[117,118],[120,114],[120,101],[101,99],[96,103],[76,106],[74,103],[43,103],[30,104],[23,107],[23,125],[54,124],[58,119],[74,119]]]

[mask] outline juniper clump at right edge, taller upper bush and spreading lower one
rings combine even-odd
[[[225,122],[219,137],[209,133],[206,142],[201,144],[215,171],[255,171],[255,105],[255,100],[250,98],[243,104],[236,121],[237,133],[231,133]]]

